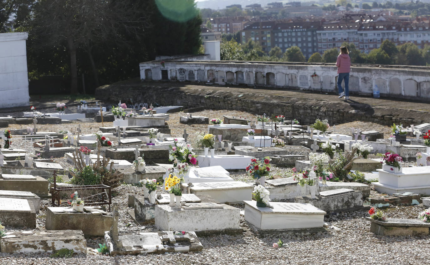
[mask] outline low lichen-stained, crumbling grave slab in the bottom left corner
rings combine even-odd
[[[86,239],[82,231],[15,231],[0,241],[3,253],[55,253],[64,248],[86,254]]]

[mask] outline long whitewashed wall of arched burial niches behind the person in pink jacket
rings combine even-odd
[[[274,64],[261,62],[166,62],[169,80],[215,81],[249,86],[289,87],[337,93],[334,65]],[[160,62],[140,64],[141,79],[161,80]],[[188,79],[187,72],[200,71],[203,79]],[[184,74],[185,73],[185,74]],[[316,77],[311,75],[316,74]],[[149,76],[151,74],[151,77]],[[378,86],[382,97],[427,100],[430,71],[412,68],[352,67],[350,94],[370,95]]]

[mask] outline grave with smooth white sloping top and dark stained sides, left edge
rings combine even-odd
[[[36,228],[36,211],[28,200],[0,197],[0,216],[8,226]]]

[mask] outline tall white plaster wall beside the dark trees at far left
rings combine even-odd
[[[0,34],[0,108],[30,105],[26,32]]]

